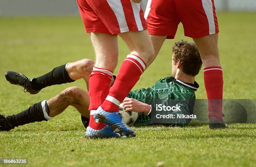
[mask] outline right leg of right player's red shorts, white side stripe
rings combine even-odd
[[[176,0],[185,36],[200,38],[219,32],[214,0]]]

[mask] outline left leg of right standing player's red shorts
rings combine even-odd
[[[175,0],[148,0],[145,11],[150,35],[167,36],[173,39],[179,25],[175,10]]]

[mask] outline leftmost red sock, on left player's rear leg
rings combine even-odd
[[[95,123],[93,118],[95,110],[104,102],[110,89],[110,81],[113,72],[105,69],[93,67],[89,80],[89,96],[90,96],[90,122],[89,126],[99,130],[105,127],[104,123]]]

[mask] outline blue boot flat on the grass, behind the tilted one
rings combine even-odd
[[[86,128],[85,137],[87,138],[110,138],[110,137],[120,137],[120,135],[114,133],[113,129],[106,125],[100,130],[95,130],[91,127]]]

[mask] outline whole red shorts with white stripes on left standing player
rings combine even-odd
[[[130,0],[77,0],[86,32],[112,35],[147,29],[140,4]]]

